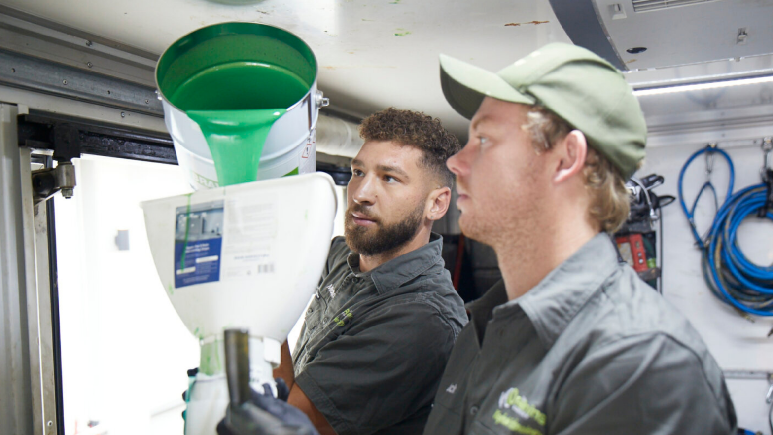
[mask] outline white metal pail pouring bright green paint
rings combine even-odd
[[[317,74],[298,36],[257,22],[214,24],[172,43],[155,77],[191,186],[314,172],[317,116],[327,105]]]

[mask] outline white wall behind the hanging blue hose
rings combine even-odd
[[[645,166],[638,175],[659,173],[666,183],[656,188],[659,195],[677,196],[679,170],[701,144],[665,146],[648,149]],[[760,182],[762,152],[759,146],[741,146],[726,151],[735,166],[735,190]],[[724,159],[714,160],[711,177],[717,187],[720,204],[727,190],[728,172]],[[706,165],[696,159],[685,174],[684,192],[692,205],[706,180]],[[696,212],[696,224],[705,231],[713,217],[713,200],[704,194]],[[758,264],[773,264],[773,224],[747,221],[738,230],[741,248]],[[724,370],[773,372],[773,337],[766,335],[773,318],[755,318],[754,323],[739,316],[720,302],[703,282],[700,251],[693,246],[690,226],[678,203],[663,209],[663,296],[690,319],[703,336],[714,358]],[[769,434],[768,405],[764,402],[769,383],[764,380],[727,379],[740,426]]]

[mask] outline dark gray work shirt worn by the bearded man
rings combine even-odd
[[[344,238],[328,262],[293,352],[295,382],[339,435],[420,434],[467,322],[431,235],[360,272]]]

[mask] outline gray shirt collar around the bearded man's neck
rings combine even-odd
[[[431,233],[430,241],[427,245],[378,265],[369,272],[361,272],[359,270],[359,255],[354,252],[349,254],[346,262],[349,264],[349,269],[356,276],[370,276],[373,279],[373,284],[376,285],[376,290],[383,294],[391,289],[397,289],[397,287],[402,286],[404,283],[420,276],[433,267],[442,268],[442,252],[443,238],[438,234]]]

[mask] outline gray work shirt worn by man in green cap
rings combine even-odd
[[[525,295],[468,305],[425,435],[727,435],[735,411],[690,322],[600,234]]]

